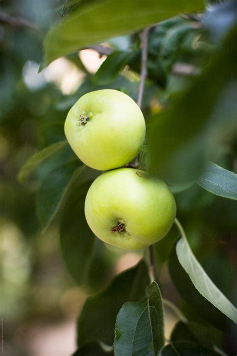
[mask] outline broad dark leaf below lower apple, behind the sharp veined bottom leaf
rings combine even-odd
[[[135,267],[118,274],[104,290],[88,297],[78,318],[78,345],[96,340],[112,345],[119,309],[126,301],[141,298],[148,284],[147,267],[141,260]]]

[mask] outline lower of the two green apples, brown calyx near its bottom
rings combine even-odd
[[[125,250],[138,250],[160,240],[175,215],[175,200],[167,185],[133,168],[101,174],[85,198],[85,218],[93,233]],[[123,230],[114,231],[120,228]]]

